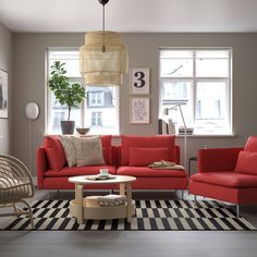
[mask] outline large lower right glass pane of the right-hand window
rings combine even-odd
[[[225,82],[198,82],[196,99],[196,131],[228,133]]]

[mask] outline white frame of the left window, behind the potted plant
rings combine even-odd
[[[51,131],[51,126],[52,126],[52,114],[51,114],[51,110],[52,110],[52,102],[51,102],[51,89],[48,86],[48,79],[49,79],[49,52],[50,51],[78,51],[78,48],[73,48],[73,47],[51,47],[51,48],[47,48],[46,49],[46,53],[45,53],[45,134],[52,134]],[[71,83],[73,82],[78,82],[81,83],[81,85],[85,86],[85,81],[84,77],[69,77],[69,81]],[[86,87],[85,87],[86,88]],[[105,96],[103,96],[105,97]],[[107,132],[106,134],[112,134],[112,135],[119,135],[120,134],[120,90],[119,87],[115,88],[115,98],[117,98],[117,124],[115,124],[115,128],[113,132]],[[84,127],[86,126],[86,120],[85,117],[87,115],[87,108],[85,102],[87,101],[87,99],[85,99],[84,102],[81,103],[81,125]],[[102,103],[105,103],[105,98],[102,100]],[[101,107],[102,105],[98,105],[95,107]],[[94,133],[94,126],[90,128],[90,132],[88,134],[95,134]],[[96,133],[98,134],[98,133]],[[105,132],[102,132],[101,134],[105,134]]]

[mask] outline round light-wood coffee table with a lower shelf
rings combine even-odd
[[[94,175],[79,175],[69,178],[69,182],[75,184],[75,199],[70,203],[70,213],[83,224],[84,220],[103,220],[126,218],[131,222],[135,212],[135,201],[132,200],[132,182],[136,180],[128,175],[112,175],[110,180],[91,180]],[[126,203],[121,206],[101,207],[95,203],[88,205],[91,197],[83,198],[83,187],[91,184],[119,184],[120,195],[126,196]],[[97,196],[95,196],[97,199]]]

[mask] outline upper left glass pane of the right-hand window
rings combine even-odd
[[[162,77],[193,76],[192,59],[161,59],[160,65],[160,72]]]

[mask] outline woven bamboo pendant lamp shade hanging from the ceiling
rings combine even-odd
[[[121,35],[114,32],[87,33],[85,45],[79,48],[79,70],[86,84],[122,85],[128,58]]]

